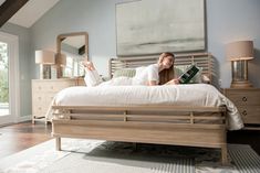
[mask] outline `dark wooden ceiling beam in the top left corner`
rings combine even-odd
[[[0,28],[29,0],[6,0],[0,6]]]

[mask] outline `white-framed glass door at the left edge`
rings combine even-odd
[[[0,32],[0,126],[19,117],[18,36]]]

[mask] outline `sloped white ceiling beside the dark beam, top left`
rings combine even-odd
[[[6,0],[0,0],[0,3]],[[29,0],[8,22],[30,28],[60,0]]]

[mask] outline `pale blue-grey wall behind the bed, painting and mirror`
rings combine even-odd
[[[32,50],[55,50],[55,37],[66,32],[87,31],[90,57],[97,71],[107,75],[107,61],[116,56],[115,3],[123,0],[62,0],[32,28]],[[231,82],[230,62],[225,58],[225,44],[253,40],[256,58],[249,63],[249,79],[260,87],[260,1],[206,0],[207,47],[217,60],[222,87]],[[31,57],[31,61],[34,58]],[[37,66],[32,66],[37,72]],[[37,73],[32,73],[37,74]],[[32,78],[35,78],[33,75]]]

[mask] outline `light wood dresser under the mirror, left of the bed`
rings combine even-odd
[[[84,86],[83,78],[32,79],[32,123],[48,122],[45,113],[56,93],[71,86]]]

